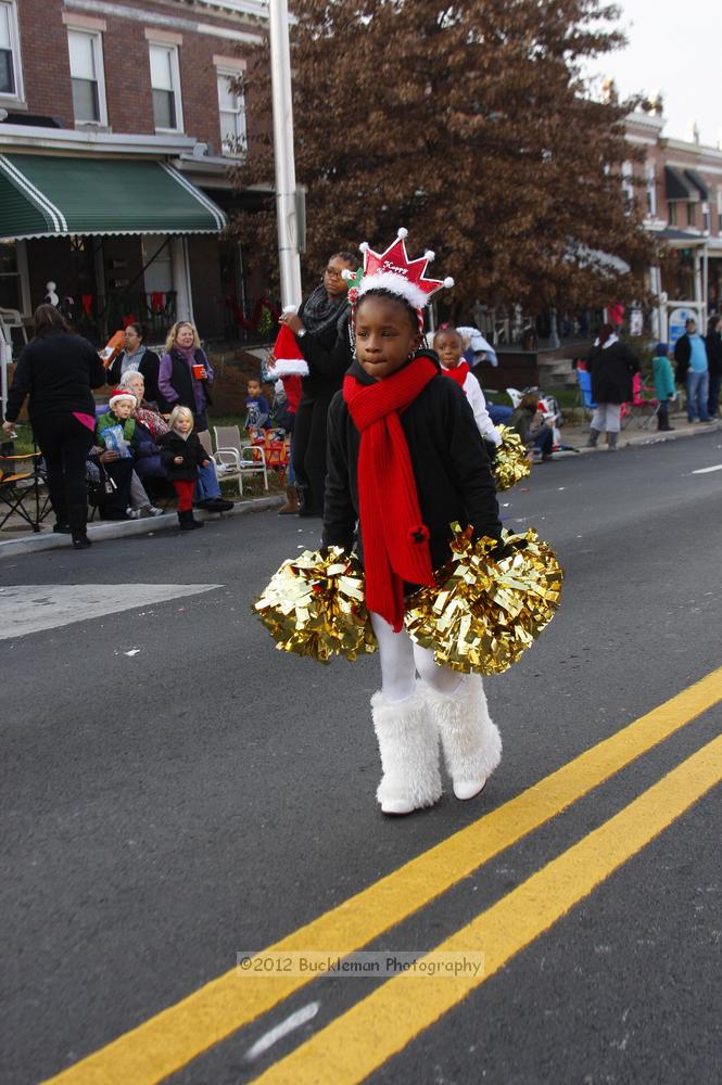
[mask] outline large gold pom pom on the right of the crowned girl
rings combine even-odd
[[[463,673],[502,674],[554,617],[562,571],[536,532],[504,533],[472,541],[471,528],[453,525],[452,557],[436,574],[436,588],[407,600],[406,628],[436,663]],[[494,557],[494,552],[498,557]]]

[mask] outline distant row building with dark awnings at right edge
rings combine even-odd
[[[622,188],[628,201],[642,202],[646,228],[675,256],[648,269],[659,298],[653,330],[673,341],[685,312],[704,323],[722,311],[722,149],[666,138],[663,128],[658,113],[628,117],[628,141],[644,159],[624,164]]]

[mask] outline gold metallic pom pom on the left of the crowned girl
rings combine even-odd
[[[329,547],[284,561],[253,609],[283,652],[328,663],[375,652],[364,603],[364,574],[353,554]]]

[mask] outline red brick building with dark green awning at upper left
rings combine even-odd
[[[254,131],[230,79],[266,18],[261,0],[0,0],[0,317],[54,282],[98,342],[129,317],[156,341],[177,318],[228,331],[248,269],[220,234],[258,199],[228,179]]]

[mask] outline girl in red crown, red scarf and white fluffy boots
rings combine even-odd
[[[405,597],[433,584],[449,554],[451,524],[501,538],[489,457],[463,390],[421,347],[421,307],[448,284],[409,266],[400,240],[365,253],[350,294],[355,360],[329,411],[324,545],[365,565],[366,603],[381,661],[371,699],[384,814],[432,806],[442,793],[439,738],[457,799],[483,789],[502,754],[478,675],[442,667],[404,629]],[[421,270],[419,266],[421,265]],[[417,680],[417,672],[420,680]]]

